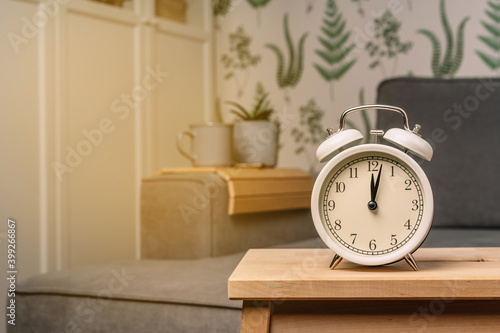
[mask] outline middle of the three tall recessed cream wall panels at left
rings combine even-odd
[[[63,149],[76,164],[63,180],[70,266],[135,255],[133,29],[79,13],[67,17]]]

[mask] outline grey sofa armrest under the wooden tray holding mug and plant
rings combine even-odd
[[[228,186],[214,173],[143,180],[141,257],[215,257],[317,236],[310,210],[228,214]]]

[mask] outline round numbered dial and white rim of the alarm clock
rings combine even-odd
[[[432,193],[423,171],[406,154],[388,146],[363,146],[325,166],[313,191],[313,217],[319,215],[320,236],[337,254],[363,264],[389,263],[425,239]]]

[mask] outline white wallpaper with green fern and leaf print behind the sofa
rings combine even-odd
[[[384,79],[495,76],[500,0],[212,0],[217,115],[258,96],[280,122],[279,166],[321,169],[315,151]],[[256,87],[258,93],[256,93]],[[374,113],[347,121],[365,141]],[[410,119],[411,122],[411,119]]]

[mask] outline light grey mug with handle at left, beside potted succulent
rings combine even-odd
[[[231,165],[233,125],[223,123],[203,123],[189,126],[189,131],[177,135],[177,149],[194,166]],[[191,153],[182,147],[184,136],[191,138]]]

